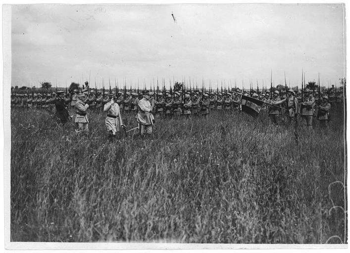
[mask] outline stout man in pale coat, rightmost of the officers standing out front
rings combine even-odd
[[[139,123],[139,132],[141,136],[145,134],[152,133],[152,125],[154,118],[152,115],[154,112],[151,110],[150,105],[150,93],[148,90],[142,91],[143,98],[139,101],[138,104],[138,114],[137,114],[137,122]]]

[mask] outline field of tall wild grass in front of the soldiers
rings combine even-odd
[[[265,115],[157,119],[152,138],[109,142],[102,113],[81,136],[12,110],[11,241],[347,243],[345,190],[331,184],[344,183],[343,113],[296,144]]]

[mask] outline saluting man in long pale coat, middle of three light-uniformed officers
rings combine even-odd
[[[119,132],[120,129],[119,126],[125,127],[122,121],[119,105],[117,102],[114,102],[115,99],[115,94],[112,92],[110,94],[110,101],[103,106],[103,111],[107,112],[104,122],[110,138],[116,136],[116,133]]]

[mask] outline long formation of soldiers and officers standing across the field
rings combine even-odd
[[[87,82],[85,84],[88,84]],[[95,95],[95,92],[96,95]],[[301,116],[305,125],[311,129],[313,118],[320,121],[321,127],[328,127],[330,118],[329,112],[331,103],[342,101],[342,92],[335,93],[334,86],[329,90],[318,94],[317,90],[303,90],[298,94],[293,89],[288,90],[284,97],[280,96],[278,90],[274,90],[271,95],[269,90],[249,93],[236,89],[235,91],[207,92],[204,90],[187,91],[181,90],[170,92],[153,93],[144,90],[142,93],[136,91],[128,92],[101,92],[86,88],[79,92],[73,90],[71,93],[57,91],[43,94],[12,94],[12,108],[44,108],[56,109],[56,115],[60,122],[66,123],[71,117],[68,108],[73,108],[75,112],[76,131],[86,132],[88,130],[87,112],[104,111],[107,113],[105,125],[109,135],[114,137],[123,125],[121,113],[133,114],[139,123],[141,134],[150,134],[154,117],[186,117],[202,116],[208,118],[211,111],[219,113],[230,113],[241,111],[242,95],[263,101],[261,107],[262,114],[267,114],[271,122],[279,125],[281,118],[287,119],[292,124],[293,119]],[[319,101],[319,98],[322,98]],[[303,99],[303,101],[301,101]],[[330,101],[331,100],[331,101]]]

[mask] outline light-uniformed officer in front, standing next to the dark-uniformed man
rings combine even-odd
[[[87,110],[89,108],[89,104],[84,104],[84,100],[86,99],[85,93],[79,93],[77,95],[77,101],[75,103],[75,125],[76,125],[76,132],[83,131],[83,133],[87,133],[89,130],[89,121],[88,117],[86,116]]]

